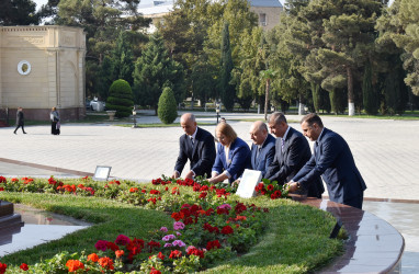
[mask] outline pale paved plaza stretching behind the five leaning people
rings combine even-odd
[[[159,123],[150,112],[139,112],[137,123]],[[214,113],[195,113],[200,123],[215,123]],[[251,122],[257,114],[222,114],[238,136],[251,144]],[[301,130],[298,115],[287,115]],[[360,119],[322,116],[326,127],[348,141],[363,175],[365,197],[419,199],[419,121]],[[178,122],[178,121],[177,121]],[[64,124],[60,136],[50,126],[27,126],[27,135],[0,128],[0,175],[80,176],[97,165],[111,165],[111,176],[148,182],[170,175],[179,152],[180,127],[129,128],[115,124]],[[214,125],[203,128],[215,132]],[[313,145],[313,144],[312,144]],[[8,161],[1,161],[7,159]],[[184,174],[184,173],[183,173]],[[403,273],[419,272],[419,204],[365,202],[364,209],[395,226],[406,239]]]

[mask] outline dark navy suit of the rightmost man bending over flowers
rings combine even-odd
[[[327,128],[315,145],[315,153],[293,180],[307,185],[318,175],[325,181],[330,199],[340,204],[363,195],[366,189],[347,141]]]

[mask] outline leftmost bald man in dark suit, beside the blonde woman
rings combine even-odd
[[[185,134],[179,139],[180,151],[172,178],[181,175],[188,159],[191,162],[191,170],[186,173],[185,179],[199,175],[211,178],[211,170],[215,161],[214,136],[196,126],[195,116],[192,113],[183,114],[180,124]]]

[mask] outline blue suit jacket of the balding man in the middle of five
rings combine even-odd
[[[257,156],[258,155],[258,156]],[[262,148],[258,153],[258,146],[251,145],[251,169],[262,171],[262,178],[268,171],[268,167],[271,165],[273,158],[275,157],[275,138],[268,134]]]

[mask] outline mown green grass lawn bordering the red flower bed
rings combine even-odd
[[[70,183],[77,185],[80,182]],[[103,183],[98,184],[103,186]],[[38,184],[35,182],[34,185]],[[127,187],[131,187],[129,185],[133,186],[134,183],[129,182]],[[138,185],[140,186],[143,185]],[[151,184],[147,186],[156,187]],[[182,196],[190,201],[196,195],[192,187],[179,189]],[[94,244],[98,240],[112,241],[121,233],[131,238],[149,239],[151,231],[173,224],[168,213],[117,202],[120,198],[2,191],[0,199],[22,203],[93,224],[59,240],[0,258],[0,261],[8,265],[20,265],[22,262],[35,264],[65,250],[70,253],[86,250],[89,254],[97,252]],[[248,205],[253,203],[269,208],[269,213],[264,215],[264,231],[259,231],[257,244],[247,253],[216,261],[216,264],[204,271],[206,273],[307,273],[321,269],[341,254],[343,242],[329,239],[336,219],[326,212],[290,199],[269,199],[265,196],[245,199],[231,195],[228,196],[228,201],[240,201]]]

